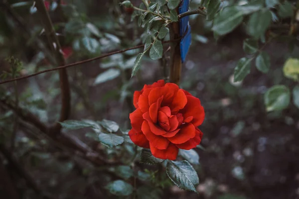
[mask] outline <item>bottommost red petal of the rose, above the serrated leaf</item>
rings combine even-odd
[[[169,143],[167,149],[165,150],[159,150],[156,147],[154,147],[151,143],[149,144],[149,147],[154,157],[164,160],[175,160],[178,154],[178,148],[172,143]]]

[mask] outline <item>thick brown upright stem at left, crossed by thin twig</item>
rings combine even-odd
[[[65,60],[62,54],[61,46],[58,41],[55,29],[50,19],[49,13],[45,7],[43,0],[35,0],[36,8],[40,12],[42,22],[44,23],[45,32],[47,33],[49,45],[54,53],[55,61],[58,66],[65,65]],[[58,121],[64,121],[68,119],[71,110],[71,95],[70,86],[66,69],[59,70],[59,81],[61,90],[61,111]],[[61,125],[56,122],[51,128],[50,133],[59,134]]]

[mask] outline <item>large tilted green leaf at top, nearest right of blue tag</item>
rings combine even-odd
[[[237,7],[225,7],[214,18],[212,30],[218,35],[224,35],[231,32],[243,21],[243,12]]]

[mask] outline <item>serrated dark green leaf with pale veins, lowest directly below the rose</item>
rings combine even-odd
[[[199,179],[194,168],[187,161],[168,161],[166,174],[180,189],[196,192]]]

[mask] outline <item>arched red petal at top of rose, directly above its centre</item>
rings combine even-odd
[[[174,94],[177,92],[178,86],[176,84],[167,83],[164,87],[151,89],[149,92],[149,104],[156,102],[163,96],[162,106],[169,106],[173,100]]]

